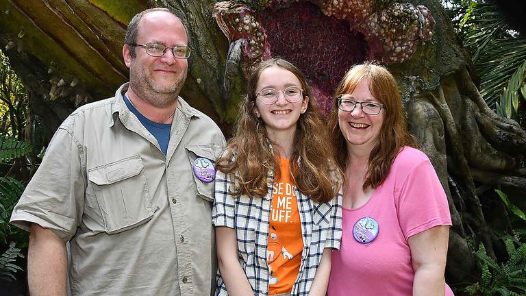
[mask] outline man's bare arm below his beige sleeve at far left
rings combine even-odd
[[[27,252],[27,280],[32,296],[66,296],[66,242],[32,223]]]

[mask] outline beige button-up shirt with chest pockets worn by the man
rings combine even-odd
[[[214,160],[225,138],[179,97],[164,156],[126,89],[62,123],[11,221],[70,240],[72,295],[210,295],[214,182],[192,165]]]

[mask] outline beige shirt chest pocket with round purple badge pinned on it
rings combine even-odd
[[[185,147],[192,167],[192,179],[197,195],[205,201],[214,201],[214,179],[216,177],[216,155],[221,151],[210,145],[188,145]]]

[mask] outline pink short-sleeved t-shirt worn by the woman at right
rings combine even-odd
[[[355,222],[370,217],[379,232],[371,243],[353,237]],[[371,199],[342,210],[342,243],[332,252],[327,295],[412,295],[414,271],[408,238],[437,225],[451,225],[444,189],[427,156],[405,147]],[[446,285],[445,295],[453,295]]]

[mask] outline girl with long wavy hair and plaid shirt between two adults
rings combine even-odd
[[[216,162],[216,295],[325,295],[341,237],[331,151],[301,72],[262,62]]]

